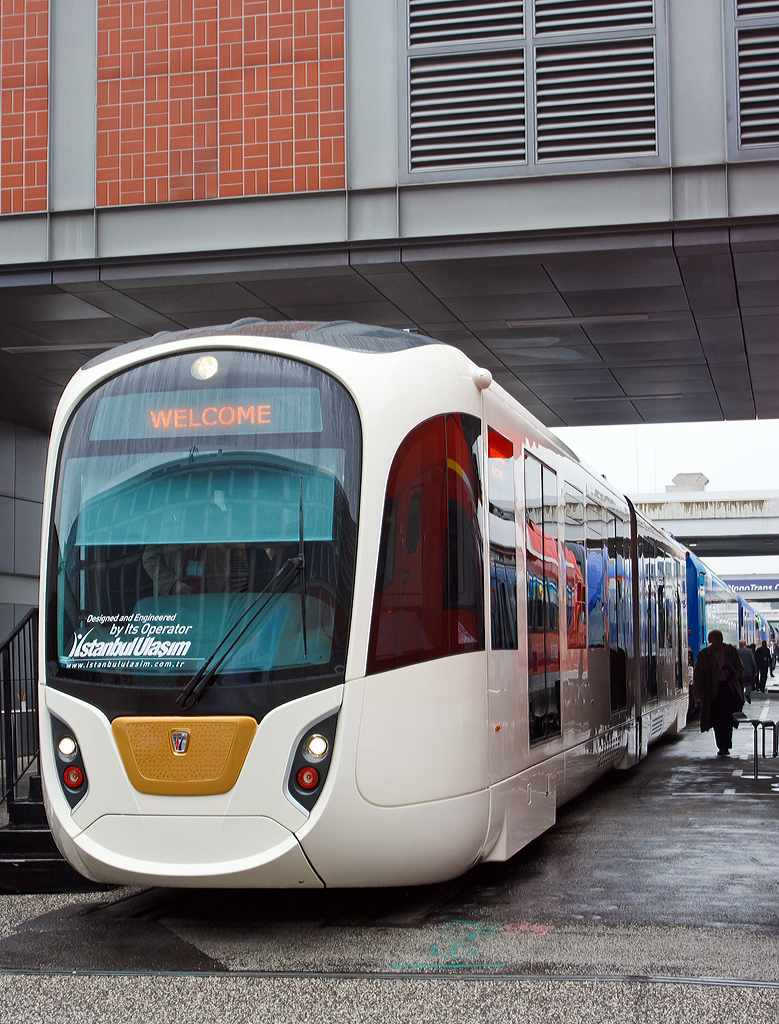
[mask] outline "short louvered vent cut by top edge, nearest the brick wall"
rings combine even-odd
[[[412,46],[521,36],[523,0],[409,0]]]

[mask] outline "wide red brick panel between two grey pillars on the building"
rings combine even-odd
[[[97,205],[343,188],[343,2],[98,0]]]

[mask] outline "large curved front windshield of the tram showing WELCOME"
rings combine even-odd
[[[203,366],[217,369],[203,380]],[[179,689],[237,624],[215,686],[333,685],[359,463],[351,398],[290,359],[187,352],[102,385],[73,417],[58,467],[49,673]],[[305,572],[258,602],[301,538]]]

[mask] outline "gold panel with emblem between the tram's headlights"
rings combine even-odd
[[[257,722],[240,715],[117,718],[112,729],[125,771],[139,793],[194,797],[232,788]],[[176,743],[185,746],[183,753],[177,753]]]

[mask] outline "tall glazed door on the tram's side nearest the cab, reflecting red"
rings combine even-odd
[[[530,742],[560,734],[557,475],[525,453]]]

